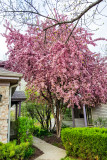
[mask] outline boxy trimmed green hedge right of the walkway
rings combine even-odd
[[[65,128],[61,139],[69,156],[83,160],[107,160],[105,128]]]

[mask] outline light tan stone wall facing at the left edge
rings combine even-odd
[[[9,108],[9,85],[0,84],[0,142],[7,143],[8,134],[8,108]]]

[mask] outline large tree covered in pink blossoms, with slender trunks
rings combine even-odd
[[[62,15],[56,17],[58,21],[67,19]],[[25,34],[6,24],[6,68],[23,73],[30,100],[42,97],[48,102],[60,136],[66,107],[94,107],[107,102],[107,63],[89,50],[88,45],[95,46],[100,39],[92,40],[92,34],[84,28],[63,24],[44,32],[54,21],[36,23]]]

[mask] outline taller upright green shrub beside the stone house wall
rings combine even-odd
[[[18,143],[33,142],[34,121],[28,117],[17,119],[17,139]]]

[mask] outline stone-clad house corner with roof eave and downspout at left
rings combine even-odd
[[[10,140],[10,108],[11,97],[15,92],[22,74],[8,71],[0,61],[0,142]]]

